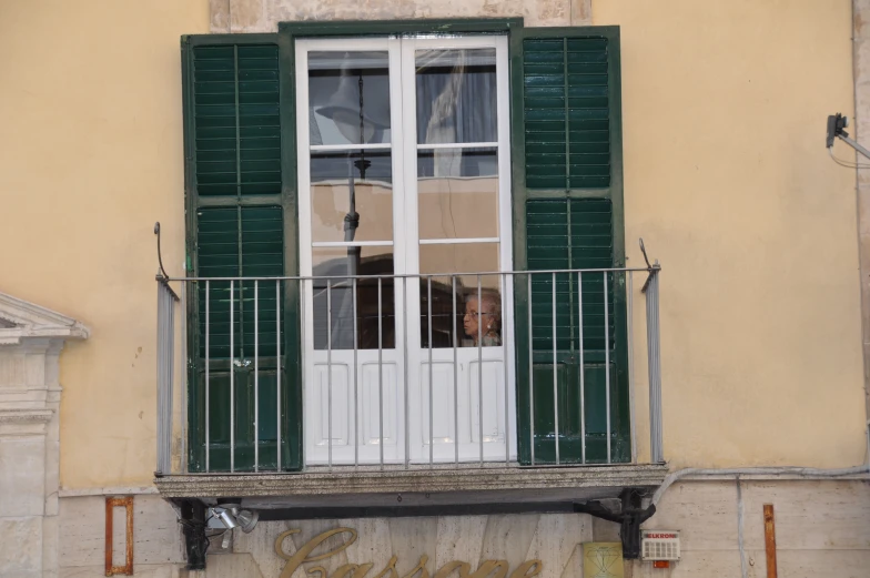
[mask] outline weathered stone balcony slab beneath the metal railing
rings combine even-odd
[[[158,477],[168,499],[244,498],[256,508],[422,507],[505,503],[570,503],[651,490],[664,464],[581,467],[335,467],[304,473],[189,474]]]

